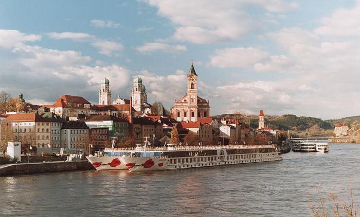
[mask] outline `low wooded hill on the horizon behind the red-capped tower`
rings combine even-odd
[[[214,116],[216,119],[232,118],[239,116],[238,114],[222,114]],[[243,115],[242,119],[251,124],[251,127],[258,127],[258,116],[255,115]],[[306,130],[311,127],[319,127],[322,129],[333,129],[334,127],[329,122],[323,121],[316,117],[296,116],[293,114],[285,114],[282,116],[265,116],[265,125],[272,127],[273,129],[283,130]]]

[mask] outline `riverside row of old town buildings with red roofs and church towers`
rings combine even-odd
[[[0,116],[0,137],[10,137],[22,146],[34,146],[38,152],[99,150],[110,145],[111,137],[118,142],[132,139],[142,143],[143,137],[157,145],[170,142],[171,131],[177,128],[182,142],[201,144],[243,144],[258,137],[262,143],[276,141],[276,131],[264,126],[260,112],[258,130],[237,119],[214,120],[210,102],[198,95],[198,75],[193,64],[187,75],[187,91],[167,113],[160,104],[155,109],[148,103],[142,78],[136,76],[130,100],[111,97],[109,79],[104,77],[99,90],[99,104],[92,105],[82,96],[63,95],[52,105],[27,104],[26,112],[10,112]],[[20,96],[19,96],[20,97]],[[21,94],[21,102],[23,100]],[[195,139],[189,140],[189,134]],[[188,137],[187,137],[188,136]],[[92,149],[84,146],[92,146]]]

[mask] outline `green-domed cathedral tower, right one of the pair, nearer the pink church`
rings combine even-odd
[[[144,111],[144,103],[148,102],[146,88],[142,85],[142,80],[136,76],[133,81],[133,90],[131,91],[132,106],[136,111]]]

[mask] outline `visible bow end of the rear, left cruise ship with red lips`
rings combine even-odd
[[[95,155],[88,155],[86,159],[93,165],[96,170],[114,170],[114,169],[128,169],[119,160],[119,156],[128,155],[130,149],[114,148],[115,137],[113,137],[111,148],[105,148],[103,151],[97,151]]]

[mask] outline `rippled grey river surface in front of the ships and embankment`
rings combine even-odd
[[[179,171],[75,171],[0,177],[0,216],[310,216],[307,192],[360,202],[360,145],[271,163]]]

